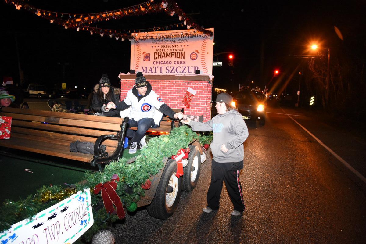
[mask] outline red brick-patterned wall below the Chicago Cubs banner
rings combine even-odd
[[[203,116],[203,122],[211,119],[211,97],[212,83],[202,80],[149,80],[153,90],[163,99],[163,101],[172,109],[184,108],[184,114]],[[134,79],[121,79],[121,100],[123,100],[127,91],[134,85]],[[186,108],[183,105],[183,97],[186,95],[188,87],[191,87],[197,93],[193,96],[191,107]]]

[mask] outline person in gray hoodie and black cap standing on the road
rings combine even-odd
[[[240,215],[245,209],[242,186],[239,180],[243,168],[244,146],[248,137],[248,128],[242,115],[231,105],[232,97],[227,93],[217,95],[216,109],[218,115],[206,123],[200,123],[185,117],[182,123],[188,124],[193,131],[213,131],[210,145],[213,160],[211,165],[211,183],[207,192],[206,213],[220,207],[220,194],[225,182],[226,189],[234,210],[232,215]]]

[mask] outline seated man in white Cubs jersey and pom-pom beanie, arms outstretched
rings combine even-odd
[[[163,113],[175,119],[182,119],[183,113],[174,111],[163,102],[163,100],[156,94],[150,83],[143,77],[141,72],[136,74],[135,85],[127,92],[126,98],[119,102],[119,104],[109,103],[104,107],[105,110],[115,108],[124,110],[131,107],[127,123],[126,136],[131,139],[131,146],[128,153],[133,154],[137,151],[137,144],[139,142],[140,148],[146,146],[145,134],[149,128],[157,128],[160,126],[160,121],[163,118]],[[137,131],[130,129],[137,127]]]

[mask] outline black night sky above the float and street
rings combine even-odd
[[[29,4],[56,12],[101,12],[141,3],[120,0],[33,1]],[[77,2],[77,3],[75,3]],[[365,1],[176,1],[183,11],[205,28],[214,28],[214,53],[232,52],[234,67],[227,55],[214,57],[223,67],[213,67],[214,86],[235,89],[251,80],[262,89],[276,68],[290,74],[306,66],[312,40],[332,48],[332,54],[347,53],[365,60]],[[120,72],[130,69],[129,41],[90,35],[87,31],[64,29],[14,5],[1,4],[3,23],[3,76],[19,82],[19,64],[30,83],[61,88],[78,85],[88,90],[102,74],[117,86]],[[108,29],[139,29],[179,22],[178,16],[150,14],[98,23]],[[336,35],[334,26],[344,40]],[[65,72],[63,72],[65,70]]]

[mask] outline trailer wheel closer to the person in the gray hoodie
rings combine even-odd
[[[201,154],[197,146],[189,146],[188,164],[183,168],[183,191],[192,191],[198,182],[201,171]]]

